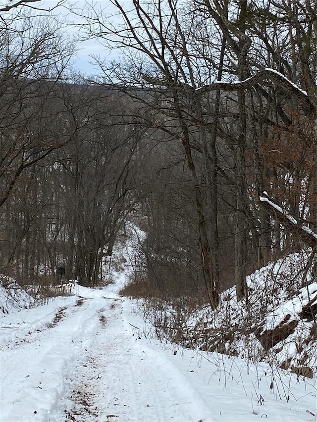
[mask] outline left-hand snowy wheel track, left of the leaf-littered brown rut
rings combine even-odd
[[[41,332],[36,341],[1,352],[0,383],[5,386],[0,390],[1,422],[49,421],[49,414],[59,408],[65,395],[65,379],[72,376],[69,370],[89,353],[85,339],[95,321],[96,310],[84,304],[80,311],[76,309],[55,327]]]

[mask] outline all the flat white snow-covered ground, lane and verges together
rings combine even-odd
[[[29,309],[2,289],[1,422],[316,420],[315,378],[151,335],[139,303],[118,294],[132,250],[117,250],[125,264],[104,288],[75,283],[72,296]]]

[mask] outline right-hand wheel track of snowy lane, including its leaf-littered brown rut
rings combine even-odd
[[[68,415],[76,422],[197,422],[197,408],[205,405],[185,378],[175,382],[174,369],[139,346],[115,299],[96,312],[100,324],[101,315],[107,322],[91,337],[88,363],[73,368],[67,398],[49,421],[67,421],[61,418]]]

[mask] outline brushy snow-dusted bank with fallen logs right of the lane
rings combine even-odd
[[[314,304],[317,282],[308,274],[308,286],[301,287],[309,255],[310,251],[291,254],[248,276],[248,304],[245,298],[237,301],[235,287],[220,295],[214,312],[209,306],[193,309],[181,303],[144,301],[152,334],[193,349],[266,361],[285,369],[308,366],[316,372],[316,316],[305,307]],[[265,334],[275,338],[265,343]]]

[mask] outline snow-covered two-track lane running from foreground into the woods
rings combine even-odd
[[[53,327],[28,342],[20,333],[13,350],[2,343],[1,422],[198,422],[198,413],[207,422],[209,411],[186,378],[139,344],[113,287],[85,290],[83,304],[68,304]]]

